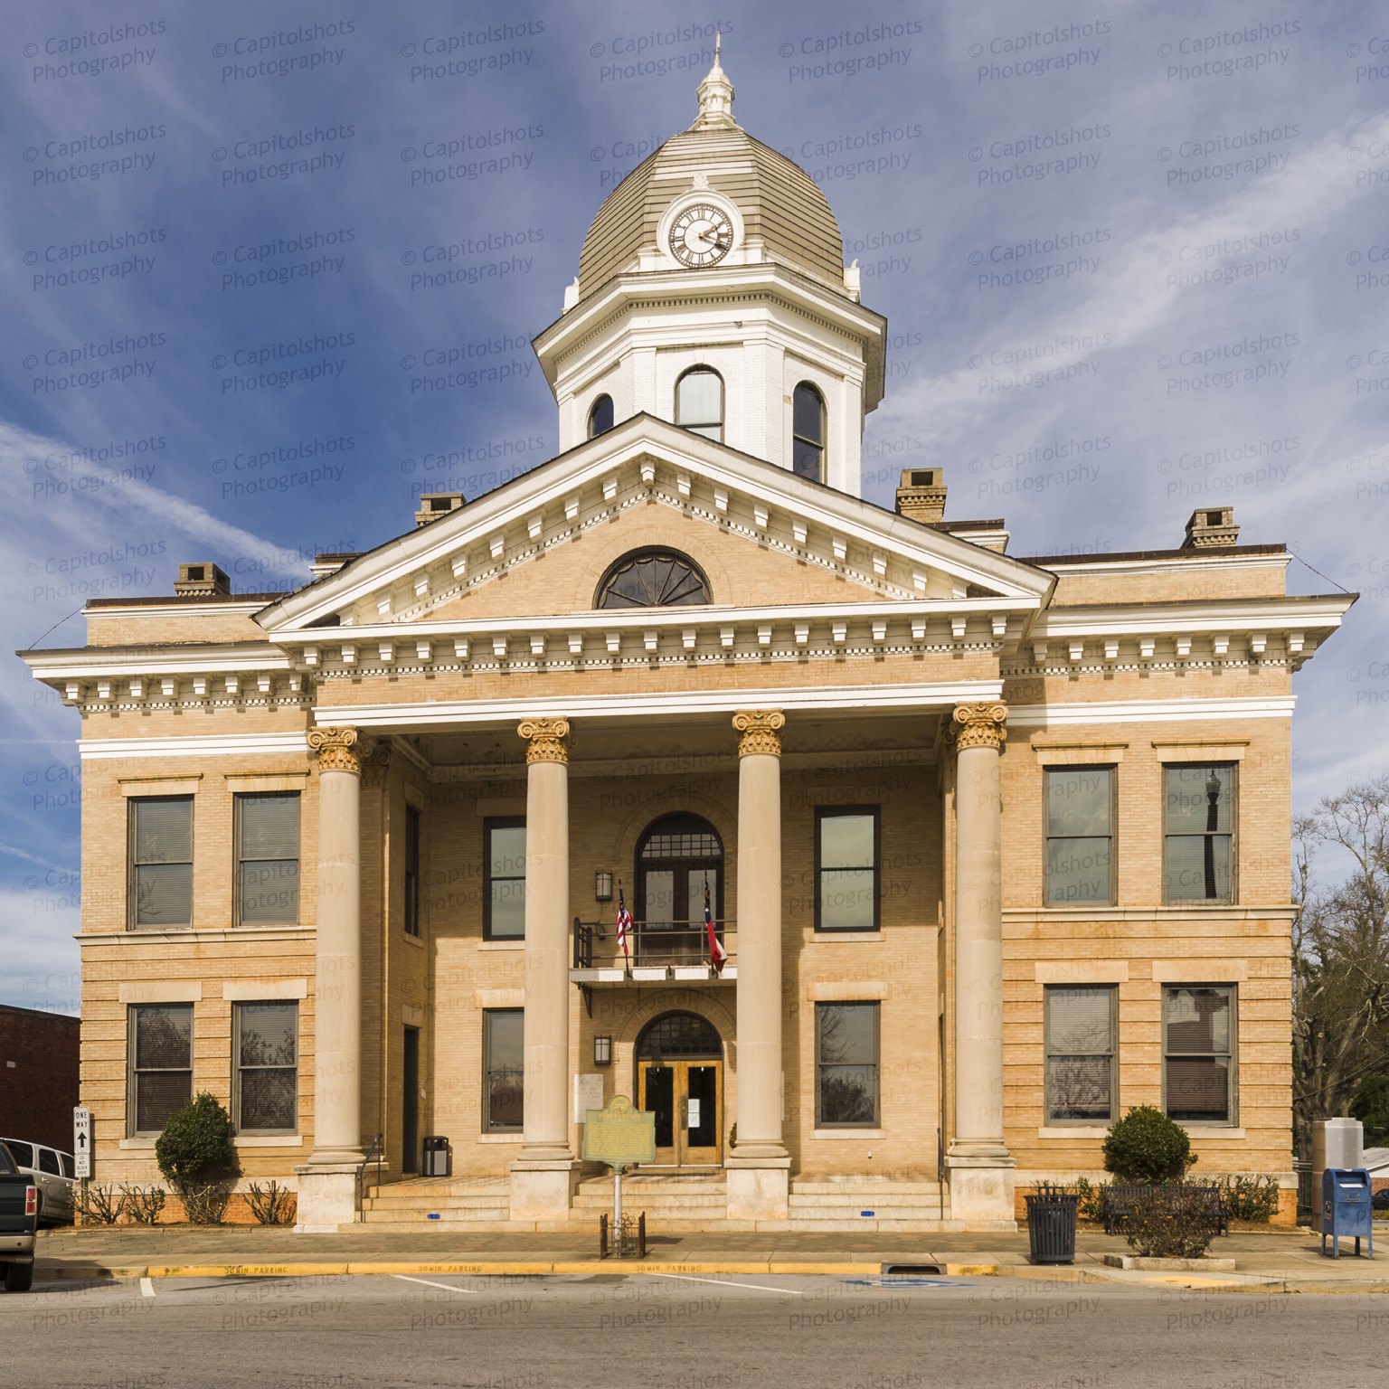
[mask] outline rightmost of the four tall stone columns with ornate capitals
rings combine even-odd
[[[950,1208],[989,1228],[1014,1221],[1003,1140],[1003,858],[999,751],[1006,704],[958,704],[956,745],[956,1132]]]

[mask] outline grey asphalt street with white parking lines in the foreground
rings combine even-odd
[[[169,1278],[0,1295],[4,1382],[82,1389],[1379,1389],[1389,1293],[1046,1278]]]

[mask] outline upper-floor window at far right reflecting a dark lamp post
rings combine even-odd
[[[1164,767],[1163,781],[1164,900],[1233,901],[1233,764]]]

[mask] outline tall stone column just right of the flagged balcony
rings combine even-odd
[[[779,710],[733,717],[738,745],[738,1143],[729,1220],[785,1220]]]

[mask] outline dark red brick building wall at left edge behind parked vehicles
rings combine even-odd
[[[72,1151],[78,1020],[0,1003],[0,1136]]]

